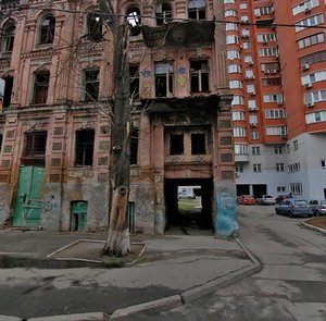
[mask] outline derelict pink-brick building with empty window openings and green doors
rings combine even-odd
[[[177,220],[179,186],[200,186],[202,218],[212,226],[218,197],[236,195],[225,25],[216,23],[224,3],[113,4],[130,28],[130,232],[164,233]],[[105,226],[110,22],[95,1],[2,0],[0,10],[0,224]]]

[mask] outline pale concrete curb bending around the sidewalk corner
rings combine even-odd
[[[262,264],[256,260],[256,258],[244,247],[242,242],[238,238],[236,238],[236,242],[240,246],[240,248],[244,251],[244,254],[248,256],[248,258],[251,260],[252,266],[251,267],[244,267],[242,269],[236,270],[230,272],[227,275],[221,276],[218,279],[212,280],[205,284],[196,286],[193,288],[187,289],[178,295],[165,297],[158,300],[148,301],[141,305],[135,305],[130,306],[125,309],[118,309],[115,310],[111,317],[111,320],[118,320],[121,318],[139,313],[139,312],[158,312],[171,308],[180,307],[187,303],[190,303],[191,300],[195,300],[201,296],[208,295],[209,293],[212,293],[216,289],[218,289],[222,286],[231,284],[236,281],[241,280],[242,277],[252,275],[262,269]]]

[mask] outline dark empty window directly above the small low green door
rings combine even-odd
[[[93,129],[76,131],[76,166],[92,165],[93,139]]]

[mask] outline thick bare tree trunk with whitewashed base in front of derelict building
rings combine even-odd
[[[125,256],[130,251],[128,197],[130,170],[129,63],[125,24],[114,33],[114,106],[112,131],[112,198],[110,226],[102,255]]]

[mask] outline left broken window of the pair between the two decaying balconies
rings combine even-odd
[[[155,65],[155,97],[168,97],[173,94],[174,72],[172,63]]]

